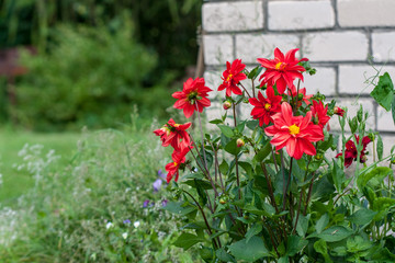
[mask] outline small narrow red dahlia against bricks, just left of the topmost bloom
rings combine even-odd
[[[247,76],[241,71],[246,68],[246,65],[241,62],[241,59],[236,59],[235,61],[226,61],[226,70],[223,72],[222,79],[224,82],[218,87],[218,91],[226,89],[226,95],[232,96],[232,92],[236,95],[241,95],[242,92],[237,84],[247,79]]]

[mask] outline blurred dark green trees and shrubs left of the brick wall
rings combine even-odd
[[[117,127],[136,107],[143,118],[167,118],[170,92],[193,77],[187,71],[196,64],[201,0],[0,4],[0,60],[18,48],[23,67],[0,68],[2,124],[40,132]]]

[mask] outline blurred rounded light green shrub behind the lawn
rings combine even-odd
[[[125,123],[134,104],[143,107],[153,91],[143,82],[155,77],[157,57],[134,41],[131,26],[113,34],[103,27],[56,32],[48,54],[23,58],[30,72],[16,83],[20,124],[37,130],[109,127]],[[150,104],[154,112],[161,102]]]

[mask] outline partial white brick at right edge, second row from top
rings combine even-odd
[[[372,47],[374,61],[395,61],[395,32],[373,32]]]

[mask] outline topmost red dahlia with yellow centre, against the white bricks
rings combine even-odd
[[[286,85],[292,87],[295,78],[298,78],[303,81],[303,75],[301,72],[305,71],[305,68],[298,66],[301,61],[307,61],[307,58],[302,58],[301,60],[295,58],[295,53],[298,48],[289,50],[285,56],[279,49],[274,49],[274,59],[269,60],[266,58],[258,58],[257,61],[261,64],[266,71],[259,78],[263,79],[261,87],[268,84],[269,87],[276,85],[276,89],[280,94],[285,92]]]

